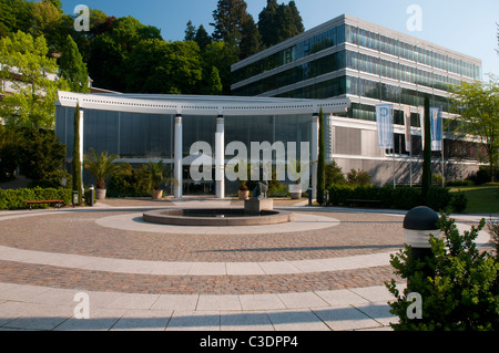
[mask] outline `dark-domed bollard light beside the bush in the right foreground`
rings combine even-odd
[[[404,219],[404,242],[410,246],[410,256],[414,260],[425,261],[432,257],[429,235],[439,236],[438,219],[438,214],[425,206],[413,208],[407,212]],[[425,276],[434,274],[428,267],[425,267],[422,271]],[[410,285],[410,283],[407,284]]]

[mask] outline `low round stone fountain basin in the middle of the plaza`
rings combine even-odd
[[[237,227],[285,224],[295,220],[295,215],[281,210],[263,210],[246,214],[244,209],[171,209],[153,210],[143,214],[147,222],[171,226]]]

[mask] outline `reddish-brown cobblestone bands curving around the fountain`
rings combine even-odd
[[[294,229],[203,233],[169,226],[164,232],[151,231],[138,215],[136,210],[95,209],[3,219],[0,246],[104,259],[278,264],[387,253],[403,245],[399,216],[308,211],[298,212]],[[307,292],[379,285],[394,277],[386,264],[259,276],[163,276],[0,261],[0,282],[131,293]]]

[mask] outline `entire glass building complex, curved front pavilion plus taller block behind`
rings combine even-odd
[[[265,148],[273,150],[274,166],[279,163],[277,144],[307,143],[307,156],[298,147],[292,157],[317,160],[322,107],[327,162],[335,160],[344,172],[364,169],[377,185],[417,184],[425,95],[448,120],[449,84],[480,80],[481,61],[342,15],[234,64],[232,73],[233,96],[60,92],[55,132],[68,145],[68,162],[79,103],[83,153],[93,147],[134,165],[161,159],[174,167],[174,177],[181,181],[176,196],[201,188],[224,197],[237,189],[237,183],[223,174],[232,158],[225,148],[233,142],[247,148],[268,143]],[[393,149],[377,147],[375,111],[381,103],[394,107]],[[405,138],[406,107],[410,110],[411,148]],[[444,154],[434,153],[434,173],[442,173],[448,180],[464,179],[478,168],[479,144],[472,136],[457,138],[454,126],[445,126]],[[190,166],[198,157],[192,147],[198,142],[210,146],[195,153],[214,162],[216,180],[200,184],[191,177]],[[314,193],[315,168],[312,164]],[[222,178],[216,178],[218,172]]]

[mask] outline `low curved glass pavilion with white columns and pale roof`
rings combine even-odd
[[[237,180],[227,179],[224,166],[237,156],[252,163],[253,144],[257,144],[258,159],[271,153],[274,167],[281,163],[277,146],[285,148],[285,160],[289,156],[317,160],[319,108],[338,114],[346,112],[349,101],[59,92],[55,134],[68,146],[68,163],[73,154],[77,104],[82,154],[94,148],[132,165],[163,160],[180,181],[175,196],[195,190],[223,198],[238,187]],[[226,150],[235,142],[247,150]],[[302,143],[308,147],[302,149]],[[191,166],[200,159],[212,164],[211,179],[192,178]],[[315,188],[315,176],[309,180]]]

